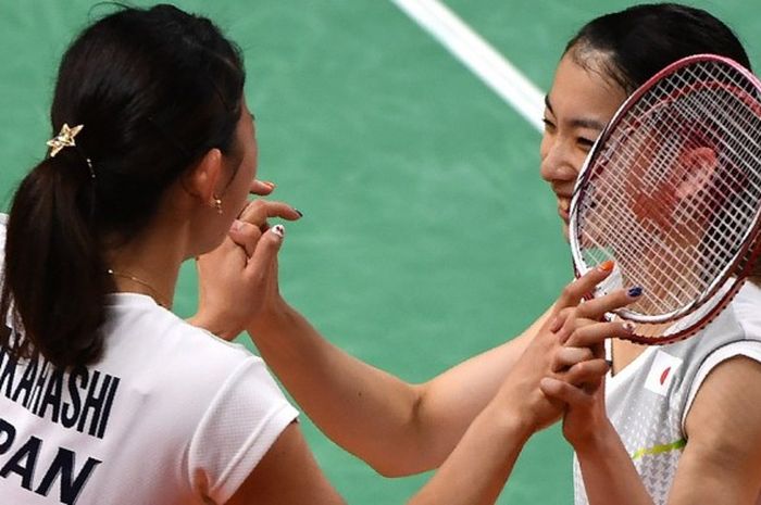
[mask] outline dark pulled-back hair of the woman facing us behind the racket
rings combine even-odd
[[[565,53],[602,72],[627,94],[693,54],[719,54],[750,68],[743,43],[727,25],[702,9],[677,3],[635,5],[597,17],[569,41]]]

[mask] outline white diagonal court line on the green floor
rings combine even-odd
[[[438,0],[391,0],[541,131],[545,93]]]

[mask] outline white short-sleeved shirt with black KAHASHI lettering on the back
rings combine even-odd
[[[148,296],[109,295],[103,331],[66,371],[0,348],[0,504],[222,504],[297,416],[261,358]]]

